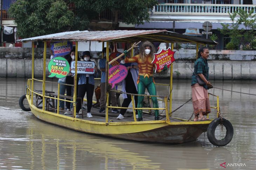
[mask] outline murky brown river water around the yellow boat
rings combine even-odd
[[[168,83],[166,79],[156,79]],[[181,145],[125,141],[76,132],[45,123],[19,108],[26,79],[0,79],[0,169],[256,169],[256,96],[210,89],[220,96],[222,116],[234,127],[233,140],[215,147],[203,133]],[[99,82],[97,82],[99,83]],[[96,83],[96,84],[97,84]],[[213,81],[214,87],[256,94],[255,81]],[[41,90],[39,83],[35,89]],[[47,85],[47,90],[56,90]],[[166,95],[168,86],[157,85]],[[174,80],[173,110],[191,98],[190,80]],[[216,98],[210,96],[211,105]],[[173,113],[188,119],[192,103]],[[212,109],[210,118],[216,117]]]

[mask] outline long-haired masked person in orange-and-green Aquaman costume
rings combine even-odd
[[[128,51],[124,51],[124,62],[137,62],[139,67],[139,77],[137,80],[138,94],[145,94],[147,88],[150,95],[156,96],[156,86],[153,78],[153,68],[155,65],[152,63],[154,59],[155,47],[149,41],[143,42],[140,48],[140,53],[132,58],[127,58]],[[164,66],[163,71],[167,70],[167,65]],[[157,70],[156,72],[162,72]],[[137,108],[142,108],[143,96],[138,96]],[[151,97],[154,108],[158,107],[156,97]],[[155,120],[159,120],[159,110],[155,110]],[[142,110],[138,110],[138,121],[142,121]]]

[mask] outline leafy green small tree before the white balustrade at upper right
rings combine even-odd
[[[229,13],[229,17],[232,20],[231,25],[221,23],[223,28],[218,30],[220,30],[222,34],[231,37],[231,43],[227,44],[229,48],[234,47],[235,50],[238,50],[239,46],[242,45],[245,50],[252,49],[252,41],[256,36],[256,32],[254,31],[256,29],[256,15],[252,15],[254,10],[255,9],[252,8],[247,13],[247,11],[239,8],[237,12],[234,12],[233,14]],[[236,20],[237,15],[239,17]],[[244,26],[245,29],[242,28],[239,30],[238,28],[240,26]],[[228,47],[226,48],[228,49]]]

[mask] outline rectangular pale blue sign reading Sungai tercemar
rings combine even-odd
[[[78,61],[77,74],[94,74],[95,62],[94,61]],[[71,73],[75,73],[75,61],[71,62]]]

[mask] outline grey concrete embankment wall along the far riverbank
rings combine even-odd
[[[47,60],[50,54],[47,49]],[[81,56],[82,52],[79,52]],[[93,59],[99,66],[100,52],[92,52]],[[190,79],[194,70],[196,50],[179,50],[175,53],[177,61],[173,64],[173,77]],[[235,50],[210,50],[209,76],[210,79],[255,79],[256,52]],[[35,48],[35,77],[43,75],[43,49]],[[190,70],[190,69],[191,70]],[[32,49],[31,48],[0,48],[0,77],[31,77]],[[170,69],[155,77],[169,77]]]

